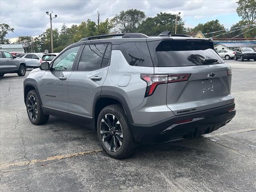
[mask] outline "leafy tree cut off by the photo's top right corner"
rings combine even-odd
[[[256,20],[256,1],[255,0],[239,0],[237,2],[238,8],[236,12],[242,20],[246,20],[248,23],[253,23]]]

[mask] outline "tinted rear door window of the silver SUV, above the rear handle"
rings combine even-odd
[[[107,46],[108,44],[92,44],[84,46],[84,50],[78,64],[78,70],[89,71],[100,68]]]

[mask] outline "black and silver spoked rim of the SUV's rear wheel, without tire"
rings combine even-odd
[[[112,114],[106,114],[100,122],[100,135],[106,148],[117,152],[122,147],[123,130],[119,120]]]

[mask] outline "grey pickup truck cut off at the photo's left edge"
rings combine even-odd
[[[8,51],[0,51],[0,77],[6,73],[17,73],[18,76],[26,74],[26,62],[24,59],[17,59]]]

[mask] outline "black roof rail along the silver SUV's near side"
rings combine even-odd
[[[97,36],[86,37],[86,38],[82,38],[80,41],[101,39],[106,37],[116,37],[116,36],[122,36],[122,38],[147,38],[148,37],[142,33],[119,33],[119,34],[107,34],[107,35],[97,35]]]

